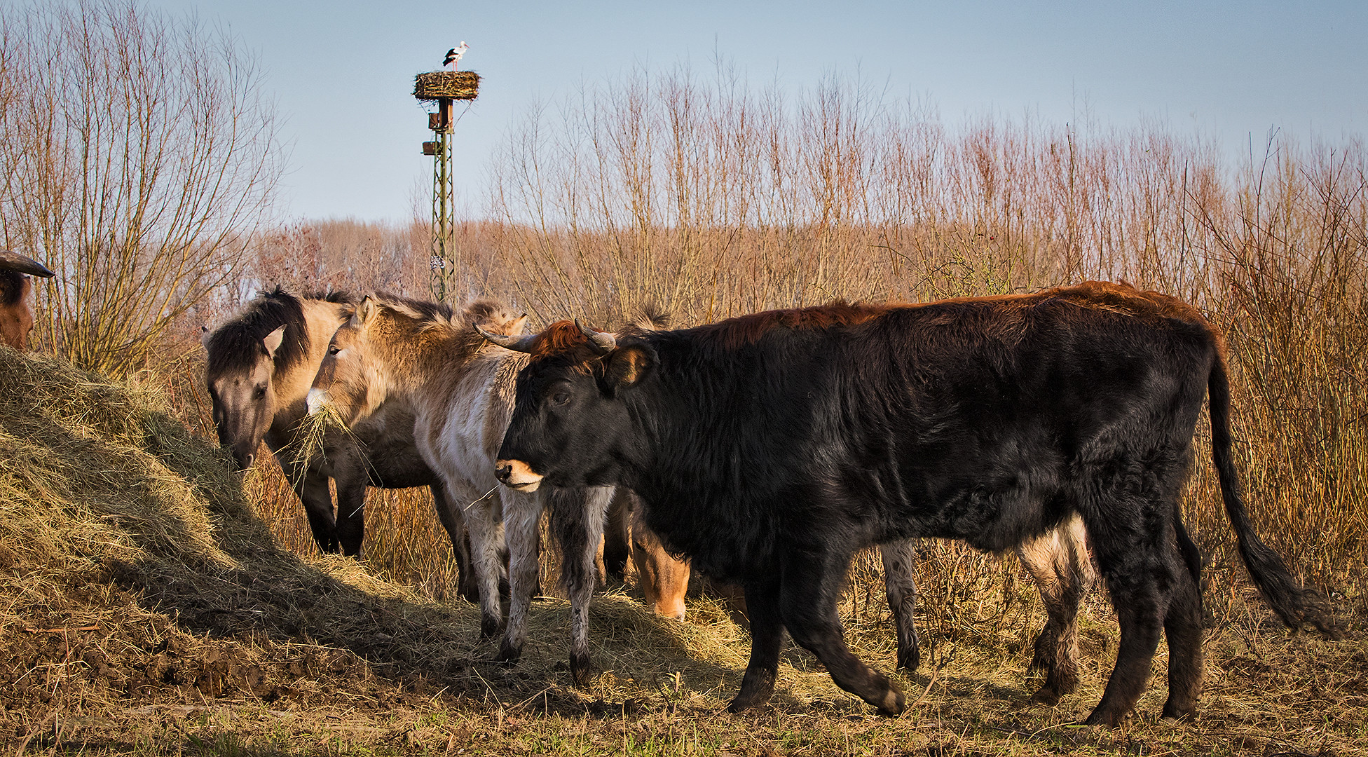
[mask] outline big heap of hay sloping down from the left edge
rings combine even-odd
[[[152,379],[107,383],[0,349],[0,741],[56,712],[118,731],[153,704],[718,709],[739,684],[748,645],[725,611],[679,624],[618,590],[595,598],[591,626],[611,672],[573,689],[568,616],[536,602],[523,663],[486,663],[497,641],[479,639],[475,605],[279,549],[227,457]],[[811,679],[844,698],[825,673],[785,671],[791,695]]]

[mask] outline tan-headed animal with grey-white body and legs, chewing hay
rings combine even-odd
[[[505,323],[508,331],[518,331],[525,318],[490,300],[453,312],[434,303],[367,297],[332,334],[309,405],[313,412],[331,408],[353,427],[386,408],[404,408],[412,416],[417,456],[450,493],[443,522],[464,517],[469,530],[480,632],[492,637],[503,627],[502,661],[514,661],[523,652],[527,612],[539,586],[538,523],[547,501],[553,520],[564,512],[592,513],[570,543],[562,543],[562,576],[573,606],[572,654],[587,660],[594,557],[611,487],[524,494],[501,487],[494,478],[494,453],[513,409],[513,378],[525,357],[487,345],[475,324]],[[505,554],[506,626],[498,591]],[[584,671],[576,673],[583,678]]]

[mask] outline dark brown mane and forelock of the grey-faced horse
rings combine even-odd
[[[305,298],[327,303],[352,301],[350,294],[345,292],[315,293]],[[285,326],[285,339],[275,350],[275,370],[285,371],[294,367],[309,355],[312,341],[300,298],[276,285],[275,289],[259,292],[242,312],[215,329],[204,341],[204,349],[209,355],[208,374],[250,368],[261,348],[261,339],[280,326]]]

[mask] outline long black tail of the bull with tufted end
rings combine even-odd
[[[1249,511],[1241,493],[1239,475],[1230,454],[1230,379],[1226,375],[1224,356],[1218,356],[1207,381],[1211,402],[1211,456],[1220,476],[1220,494],[1226,502],[1226,516],[1235,530],[1239,543],[1239,557],[1259,586],[1264,600],[1282,617],[1289,628],[1300,630],[1315,626],[1327,637],[1338,635],[1334,628],[1334,612],[1330,600],[1315,589],[1306,589],[1287,571],[1286,563],[1268,548],[1249,523]]]

